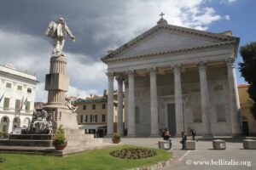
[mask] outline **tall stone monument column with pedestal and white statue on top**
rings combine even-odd
[[[56,29],[53,32],[54,27]],[[63,125],[65,129],[78,129],[78,119],[74,114],[75,110],[70,107],[68,101],[66,101],[66,92],[69,86],[69,77],[66,73],[67,59],[62,52],[66,37],[61,37],[61,31],[68,31],[68,35],[73,41],[71,31],[67,27],[67,23],[63,18],[60,18],[56,22],[50,22],[45,35],[53,38],[54,49],[50,57],[49,74],[45,77],[45,90],[48,93],[48,102],[44,105],[44,111],[47,111],[52,119],[53,133],[60,125]],[[60,45],[61,44],[61,45]]]

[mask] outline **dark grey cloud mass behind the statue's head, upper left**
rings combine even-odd
[[[87,54],[92,59],[100,59],[109,44],[109,40],[96,42],[94,36],[102,30],[102,18],[109,13],[119,14],[119,7],[124,6],[121,1],[67,1],[67,0],[8,0],[2,1],[0,6],[0,29],[43,37],[49,21],[64,17],[70,30],[73,31],[77,42],[67,41],[65,50],[71,53]],[[113,39],[111,40],[113,41]],[[81,62],[87,60],[80,59]]]

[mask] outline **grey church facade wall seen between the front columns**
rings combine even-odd
[[[195,128],[201,135],[204,125],[201,122],[201,93],[199,71],[182,72],[183,114],[185,131]],[[212,122],[213,135],[230,135],[229,89],[226,68],[209,68],[207,82],[210,97],[209,114]],[[166,104],[174,102],[173,73],[157,75],[159,128],[167,127]],[[171,99],[172,98],[172,99]],[[139,123],[136,122],[138,136],[150,133],[150,80],[149,75],[135,77],[135,106],[139,108]],[[197,118],[196,118],[197,117]],[[179,125],[182,126],[183,125]]]

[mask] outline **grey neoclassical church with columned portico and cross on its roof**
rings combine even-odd
[[[205,137],[241,134],[235,61],[239,37],[168,25],[161,18],[102,58],[108,65],[108,136],[113,135],[113,81],[118,133],[172,136],[194,128]],[[123,85],[125,99],[123,101]],[[123,115],[125,115],[123,117]],[[123,120],[125,120],[123,123]]]

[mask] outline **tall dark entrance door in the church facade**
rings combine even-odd
[[[172,136],[176,135],[175,104],[167,104],[168,128]]]

